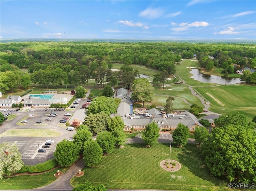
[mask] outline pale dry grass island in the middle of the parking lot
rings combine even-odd
[[[12,129],[0,134],[0,137],[19,136],[19,137],[58,137],[60,133],[51,129]]]

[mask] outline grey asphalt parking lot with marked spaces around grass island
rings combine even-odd
[[[79,105],[85,103],[86,100],[82,100]],[[15,114],[15,118],[12,120],[7,120],[0,127],[0,132],[3,133],[12,129],[50,129],[55,130],[60,133],[58,137],[41,137],[40,134],[37,137],[20,137],[20,136],[3,136],[0,139],[0,144],[3,142],[16,142],[20,153],[22,154],[22,161],[24,161],[25,165],[36,165],[38,163],[43,163],[49,159],[54,158],[53,153],[56,149],[56,145],[58,142],[63,139],[67,140],[68,138],[72,138],[76,131],[67,131],[65,124],[60,124],[60,119],[64,116],[65,113],[73,114],[76,109],[80,109],[80,107],[74,108],[74,110],[61,110],[57,111],[54,109],[45,108],[22,108],[19,111],[16,111],[16,108],[10,108],[7,111],[3,111],[4,109],[0,109],[3,114],[10,113],[8,117],[11,118],[11,114]],[[51,113],[56,113],[55,117],[49,117]],[[34,114],[34,116],[29,116],[29,114]],[[14,116],[13,116],[14,117]],[[47,118],[50,121],[46,120]],[[22,120],[26,120],[26,123],[20,123]],[[41,121],[42,124],[36,124],[37,121]],[[38,149],[42,148],[46,140],[52,139],[55,142],[50,146],[50,148],[43,148],[46,150],[44,153],[39,153]]]

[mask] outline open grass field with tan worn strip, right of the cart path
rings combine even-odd
[[[210,101],[209,109],[213,112],[228,114],[238,111],[250,120],[256,115],[256,86],[240,84],[194,89]]]

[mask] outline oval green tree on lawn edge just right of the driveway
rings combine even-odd
[[[102,161],[102,148],[94,140],[88,140],[84,143],[83,158],[88,167],[93,167]]]

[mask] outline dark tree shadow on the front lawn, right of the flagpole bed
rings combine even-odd
[[[187,167],[190,172],[201,179],[210,181],[214,185],[227,183],[223,178],[214,177],[211,175],[210,170],[202,159],[200,154],[200,148],[196,147],[196,144],[187,144],[183,149],[183,152],[177,155],[179,162],[184,167]]]

